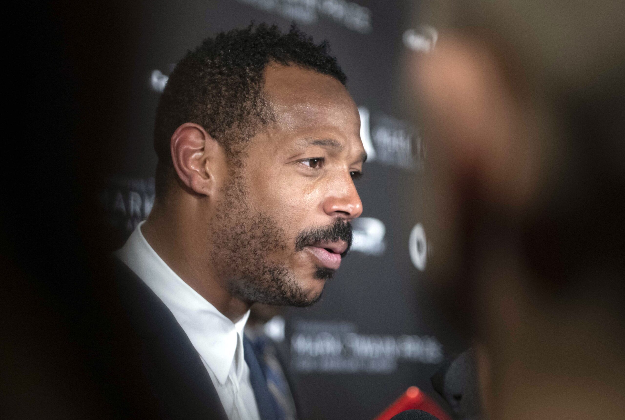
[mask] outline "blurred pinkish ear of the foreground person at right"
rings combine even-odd
[[[481,42],[439,39],[419,59],[416,85],[449,171],[475,178],[491,199],[521,204],[531,191],[531,124],[501,65]],[[522,121],[523,124],[519,124]]]

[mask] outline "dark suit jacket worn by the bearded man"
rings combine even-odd
[[[126,264],[117,258],[112,264],[96,349],[111,402],[128,418],[227,420],[206,367],[171,311]],[[247,339],[244,354],[261,420],[274,420]]]

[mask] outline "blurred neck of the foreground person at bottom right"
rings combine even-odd
[[[490,313],[504,316],[491,317],[497,332],[487,334],[487,347],[476,346],[489,418],[623,418],[623,329],[611,308],[493,296],[505,309]]]

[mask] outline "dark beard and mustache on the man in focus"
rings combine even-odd
[[[222,192],[224,198],[217,205],[209,233],[211,263],[217,274],[226,279],[226,288],[232,296],[246,302],[299,307],[319,301],[322,291],[311,296],[286,264],[289,249],[293,247],[284,229],[274,217],[249,206],[242,177],[232,176]],[[314,242],[338,240],[347,242],[347,249],[351,246],[351,225],[341,219],[330,226],[300,232],[291,256]],[[287,254],[284,262],[269,259],[279,254]],[[326,267],[317,266],[314,272],[319,280],[332,276],[334,270]]]

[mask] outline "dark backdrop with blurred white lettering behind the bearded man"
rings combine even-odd
[[[413,2],[391,0],[158,0],[129,11],[124,29],[131,37],[124,106],[101,192],[119,244],[153,205],[154,113],[187,49],[252,20],[282,29],[296,21],[316,41],[329,39],[349,78],[369,154],[356,181],[364,213],[353,223],[353,252],[321,302],[287,308],[266,324],[286,354],[305,420],[372,419],[412,385],[436,397],[430,377],[456,350],[443,346],[453,337],[434,334],[436,314],[419,301],[436,247],[420,223],[427,141],[401,99],[402,68],[410,49],[432,47],[436,32],[416,26],[415,10]]]

